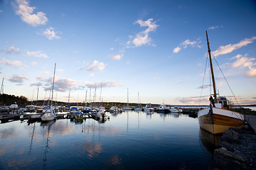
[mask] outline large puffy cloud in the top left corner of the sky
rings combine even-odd
[[[46,13],[42,11],[33,13],[36,9],[35,6],[29,6],[26,0],[16,0],[16,14],[21,16],[21,20],[28,23],[31,26],[45,25],[48,21]]]

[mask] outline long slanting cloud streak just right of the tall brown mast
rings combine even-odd
[[[243,46],[246,46],[246,45],[252,43],[255,39],[256,39],[256,37],[245,38],[244,40],[241,40],[240,42],[233,44],[233,45],[229,44],[229,45],[225,45],[225,46],[220,46],[218,48],[218,50],[215,50],[213,52],[213,55],[215,57],[217,57],[218,55],[228,54],[230,52],[233,52],[234,50],[239,49],[240,47],[243,47]]]

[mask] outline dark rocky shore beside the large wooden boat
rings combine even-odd
[[[255,132],[237,128],[226,130],[214,151],[209,169],[256,169]]]

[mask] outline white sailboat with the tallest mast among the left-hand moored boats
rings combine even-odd
[[[54,87],[54,79],[55,79],[55,69],[56,69],[56,63],[54,65],[53,87]],[[52,98],[51,98],[50,106],[43,109],[43,115],[41,116],[41,120],[50,121],[50,120],[55,120],[55,118],[56,118],[56,113],[53,109],[53,89],[52,89]]]

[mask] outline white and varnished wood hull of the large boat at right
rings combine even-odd
[[[198,111],[200,128],[213,135],[221,135],[229,128],[242,128],[244,120],[244,115],[221,108],[213,108],[213,118],[210,115],[210,108]]]

